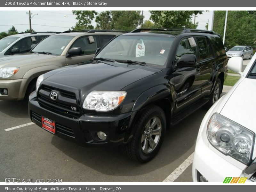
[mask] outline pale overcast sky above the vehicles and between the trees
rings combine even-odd
[[[101,11],[97,11],[101,12]],[[8,31],[12,25],[18,32],[29,29],[28,11],[0,11],[0,32]],[[76,16],[71,11],[31,11],[32,29],[35,31],[65,31],[75,26]],[[150,13],[143,11],[144,20],[149,20]],[[210,12],[204,12],[197,15],[196,22],[199,22],[198,29],[205,29],[208,19],[211,17]],[[4,19],[3,19],[4,18]],[[194,17],[192,18],[194,22]],[[96,26],[95,21],[92,25]]]

